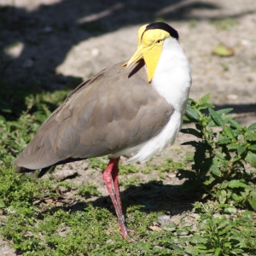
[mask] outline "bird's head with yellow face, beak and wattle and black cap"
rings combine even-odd
[[[148,82],[151,82],[157,67],[162,47],[166,38],[178,39],[177,31],[164,22],[154,22],[143,25],[138,32],[137,51],[123,67],[132,67],[140,60],[144,60],[148,69]]]

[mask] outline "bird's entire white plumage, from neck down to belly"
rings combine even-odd
[[[137,154],[127,160],[127,164],[149,160],[168,144],[172,145],[181,129],[191,86],[191,70],[189,61],[175,38],[166,38],[151,84],[172,105],[174,112],[165,128],[156,137],[137,147]]]

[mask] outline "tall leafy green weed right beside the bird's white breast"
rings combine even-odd
[[[255,176],[246,171],[245,163],[256,167],[256,123],[241,127],[231,116],[232,108],[214,111],[210,95],[189,101],[186,120],[195,128],[183,129],[201,139],[183,143],[195,148],[192,170],[179,170],[187,177],[185,189],[204,189],[220,203],[239,207],[250,205],[256,210]],[[201,110],[206,110],[203,114]],[[218,129],[216,129],[218,127]],[[214,129],[215,128],[215,129]]]

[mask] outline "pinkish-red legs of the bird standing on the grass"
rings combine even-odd
[[[128,237],[131,239],[131,237],[128,234],[127,227],[125,225],[125,218],[124,218],[120,195],[119,195],[118,165],[119,165],[119,157],[115,159],[110,159],[105,172],[103,172],[102,174],[102,178],[106,184],[108,193],[113,202],[113,207],[115,209],[116,215],[119,220],[119,228],[121,230],[122,236],[124,238]]]

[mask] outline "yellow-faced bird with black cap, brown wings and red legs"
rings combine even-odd
[[[172,145],[183,124],[192,83],[178,32],[165,22],[143,25],[130,60],[103,69],[73,90],[16,158],[16,172],[107,155],[102,178],[119,229],[132,241],[119,193],[119,159],[145,162]],[[124,63],[125,62],[125,63]],[[133,153],[133,154],[131,154]]]

